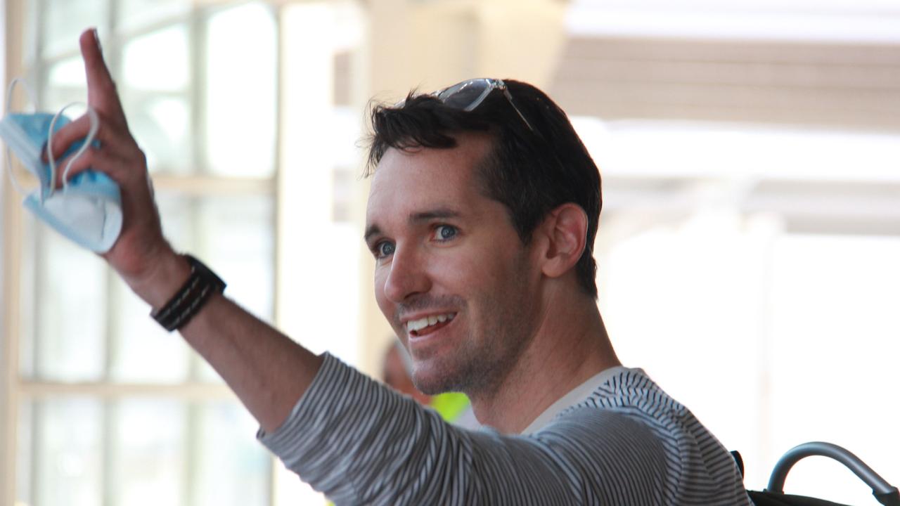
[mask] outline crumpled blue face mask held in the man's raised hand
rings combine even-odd
[[[47,222],[59,233],[72,239],[79,246],[97,253],[105,253],[112,248],[121,232],[121,194],[119,185],[109,176],[94,170],[85,170],[68,180],[68,170],[72,162],[80,157],[94,142],[98,118],[88,107],[91,129],[84,140],[79,140],[63,154],[72,155],[63,173],[63,188],[56,190],[56,160],[48,150],[49,163],[41,160],[41,148],[50,144],[53,133],[62,128],[68,118],[63,115],[67,107],[56,114],[50,113],[9,113],[9,104],[16,83],[10,83],[6,96],[6,110],[0,121],[0,137],[6,143],[6,167],[9,169],[13,185],[21,194],[26,192],[16,180],[9,152],[12,150],[23,166],[37,177],[40,187],[29,193],[23,202],[26,209],[40,220]],[[94,146],[97,143],[94,142]]]

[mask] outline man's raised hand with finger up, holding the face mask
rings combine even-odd
[[[190,269],[163,237],[147,158],[131,137],[115,83],[103,61],[96,30],[82,33],[79,42],[87,74],[87,104],[97,113],[100,122],[95,138],[100,145],[87,149],[77,158],[68,176],[92,168],[118,183],[122,203],[121,235],[103,258],[132,290],[158,308],[177,291]],[[90,119],[85,115],[55,133],[50,147],[55,157],[61,156],[72,142],[85,138],[90,126]],[[67,162],[67,159],[60,160],[58,167],[66,167]],[[59,170],[58,185],[62,183],[61,173]]]

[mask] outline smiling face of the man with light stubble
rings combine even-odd
[[[491,140],[457,140],[455,149],[389,149],[367,208],[375,298],[425,393],[476,393],[501,381],[538,318],[533,248],[476,175]]]

